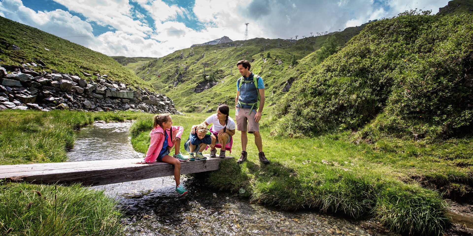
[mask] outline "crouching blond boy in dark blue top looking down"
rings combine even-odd
[[[193,131],[184,143],[185,151],[189,152],[189,160],[207,160],[207,157],[202,155],[202,151],[212,143],[210,131],[204,124],[196,126]]]

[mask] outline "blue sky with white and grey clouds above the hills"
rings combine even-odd
[[[228,36],[333,32],[448,0],[0,0],[0,16],[109,56],[162,57]]]

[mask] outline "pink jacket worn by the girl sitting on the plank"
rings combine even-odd
[[[169,133],[172,130],[172,135]],[[183,126],[171,126],[171,130],[166,129],[167,132],[167,146],[172,148],[174,146],[173,137],[181,138],[182,133],[184,132]],[[163,148],[164,143],[164,131],[161,126],[155,127],[154,129],[149,132],[149,136],[151,137],[151,142],[149,143],[148,152],[146,152],[145,161],[146,162],[154,162],[158,159],[159,152]]]

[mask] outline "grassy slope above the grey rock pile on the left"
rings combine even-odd
[[[51,72],[54,69],[63,73],[78,74],[84,79],[88,78],[82,72],[96,72],[100,75],[106,74],[109,79],[117,82],[150,86],[102,53],[4,17],[0,17],[0,27],[0,64],[21,65],[41,59],[46,66],[43,69],[36,67],[37,71]],[[12,45],[20,49],[12,50]]]

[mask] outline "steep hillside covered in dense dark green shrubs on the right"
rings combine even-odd
[[[471,132],[473,16],[426,14],[368,25],[296,81],[282,127],[303,135],[362,129],[371,139]]]

